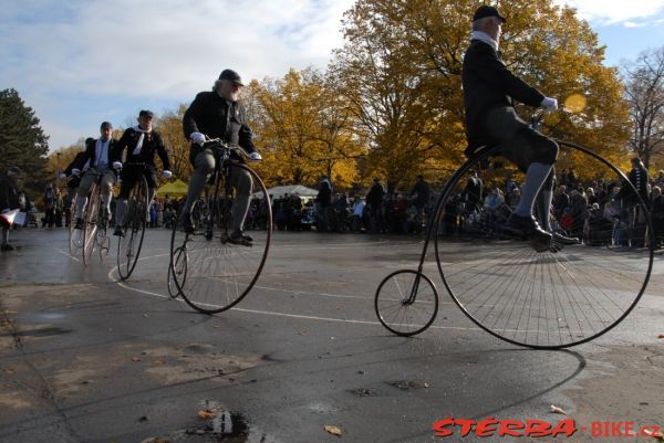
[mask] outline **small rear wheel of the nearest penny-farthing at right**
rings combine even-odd
[[[378,285],[374,309],[387,330],[404,337],[414,336],[434,323],[438,292],[426,275],[411,270],[396,271]]]

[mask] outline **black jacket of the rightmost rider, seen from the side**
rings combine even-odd
[[[466,51],[461,83],[468,137],[467,154],[481,145],[497,143],[486,130],[489,110],[513,107],[513,101],[539,106],[544,99],[542,93],[509,71],[494,48],[480,40],[473,40]]]

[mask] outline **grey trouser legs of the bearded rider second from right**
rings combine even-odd
[[[194,202],[198,199],[205,183],[207,183],[210,175],[215,171],[215,156],[210,149],[198,152],[194,159],[194,173],[189,182],[187,191],[187,200],[183,205],[183,212],[191,211]],[[230,184],[235,189],[235,199],[232,202],[232,220],[231,230],[241,232],[245,225],[245,218],[249,210],[249,201],[251,200],[251,190],[253,182],[251,176],[243,169],[230,167]]]

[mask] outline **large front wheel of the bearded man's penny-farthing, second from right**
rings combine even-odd
[[[225,193],[227,183],[219,175],[211,197],[205,200],[209,210],[193,208],[191,213],[201,213],[214,220],[211,239],[206,239],[203,229],[185,234],[181,220],[175,224],[172,249],[183,247],[187,254],[187,278],[181,284],[177,278],[179,294],[194,309],[204,314],[216,314],[236,306],[249,294],[264,266],[272,238],[272,211],[264,183],[258,175],[245,165],[234,168],[250,175],[253,190],[264,196],[266,230],[251,231],[252,246],[235,245],[224,242],[228,235],[230,215],[225,213]],[[215,204],[215,202],[217,202]],[[200,205],[201,203],[197,203]],[[195,225],[198,220],[195,220]]]

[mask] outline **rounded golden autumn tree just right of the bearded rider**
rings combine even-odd
[[[323,175],[336,189],[354,183],[363,140],[347,103],[320,72],[291,70],[283,78],[252,82],[245,101],[267,183],[314,186]]]

